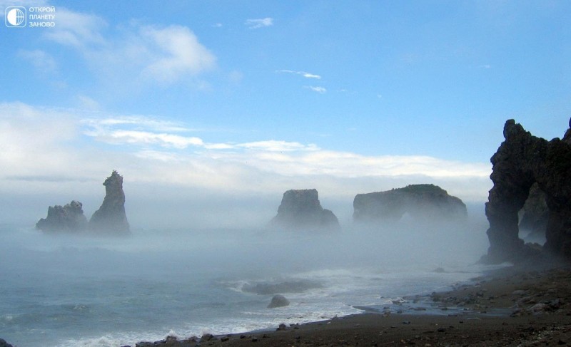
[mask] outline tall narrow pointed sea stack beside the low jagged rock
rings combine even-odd
[[[123,177],[113,170],[105,182],[105,198],[101,207],[91,216],[89,229],[105,234],[128,234],[129,223],[125,214]]]

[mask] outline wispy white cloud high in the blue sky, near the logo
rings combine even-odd
[[[132,93],[141,85],[188,83],[189,77],[211,70],[216,56],[186,26],[143,26],[132,22],[106,34],[98,16],[57,9],[53,30],[44,38],[75,48],[100,81],[111,90]],[[197,86],[203,83],[192,81]]]

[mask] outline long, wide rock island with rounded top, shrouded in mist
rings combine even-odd
[[[444,222],[467,216],[458,197],[436,185],[408,185],[404,188],[355,195],[353,219],[358,222],[395,222],[404,214],[421,221]]]

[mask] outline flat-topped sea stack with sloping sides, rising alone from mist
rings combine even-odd
[[[278,214],[270,222],[272,229],[339,231],[339,221],[329,209],[323,209],[318,192],[288,190],[283,193]]]

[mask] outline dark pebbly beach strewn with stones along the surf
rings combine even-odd
[[[171,336],[131,347],[571,344],[569,264],[509,266],[451,287],[403,298],[402,313],[392,310],[399,304],[383,311],[357,306],[363,313],[228,335]]]

